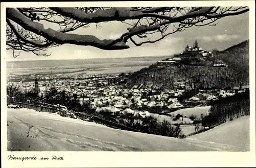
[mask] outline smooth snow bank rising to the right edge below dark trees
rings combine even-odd
[[[214,129],[187,137],[187,139],[211,141],[236,146],[239,151],[250,151],[250,116],[242,116]]]

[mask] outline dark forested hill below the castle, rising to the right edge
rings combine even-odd
[[[249,85],[249,40],[223,51],[212,51],[227,67],[178,65],[158,67],[153,64],[127,76],[128,87],[165,89],[173,88],[173,81],[190,80],[202,89],[232,88]],[[170,56],[171,57],[171,56]],[[159,60],[160,61],[160,60]]]

